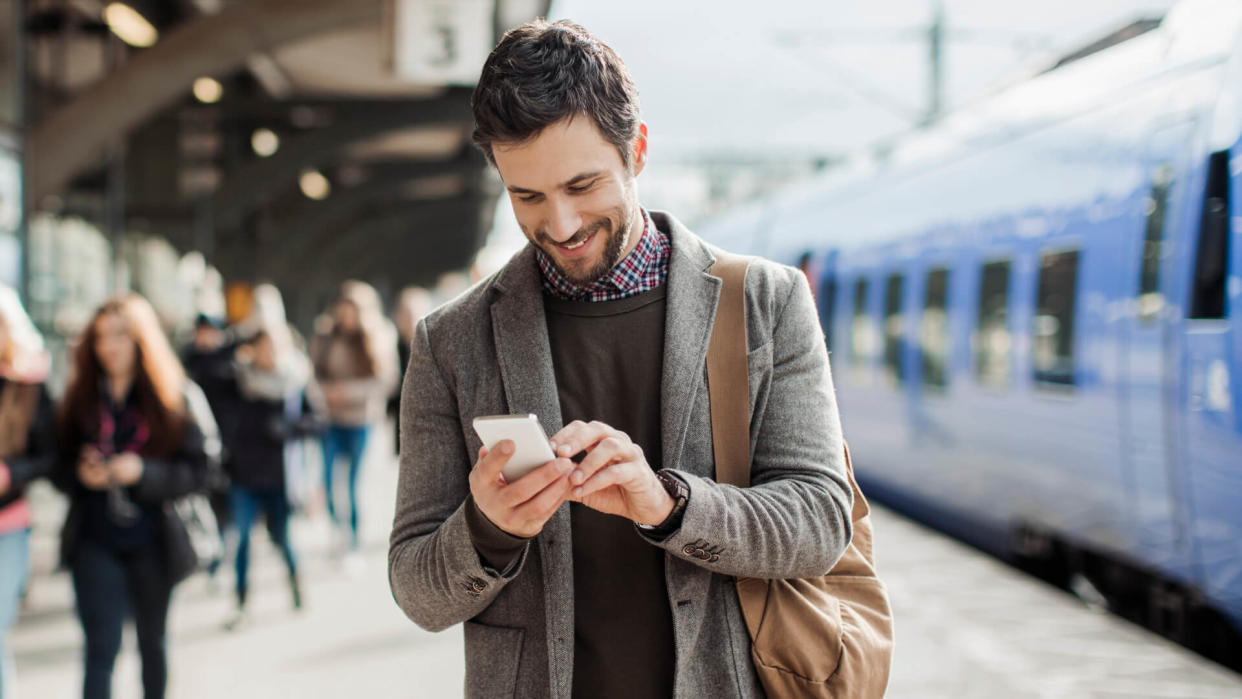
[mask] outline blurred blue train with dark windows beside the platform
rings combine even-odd
[[[1131,29],[699,230],[807,271],[869,495],[1238,667],[1242,2]]]

